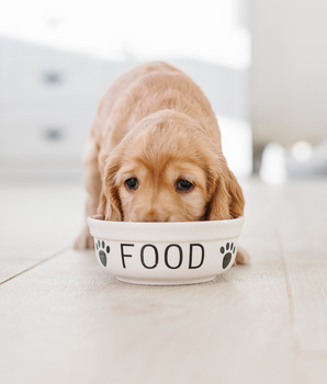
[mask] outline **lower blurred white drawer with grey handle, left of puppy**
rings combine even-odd
[[[0,156],[2,158],[81,157],[93,115],[2,114]]]

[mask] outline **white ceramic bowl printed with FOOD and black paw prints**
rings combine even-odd
[[[88,217],[100,266],[134,284],[203,283],[234,263],[245,218],[131,223]]]

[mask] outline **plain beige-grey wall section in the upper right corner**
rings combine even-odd
[[[327,138],[327,1],[250,7],[255,144]]]

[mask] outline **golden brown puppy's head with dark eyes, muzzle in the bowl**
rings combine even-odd
[[[218,148],[172,111],[143,120],[106,160],[99,213],[109,221],[189,222],[243,215],[241,189]]]

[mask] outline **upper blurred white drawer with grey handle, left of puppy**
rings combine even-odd
[[[4,97],[98,97],[103,93],[103,66],[78,56],[1,58],[0,87]]]

